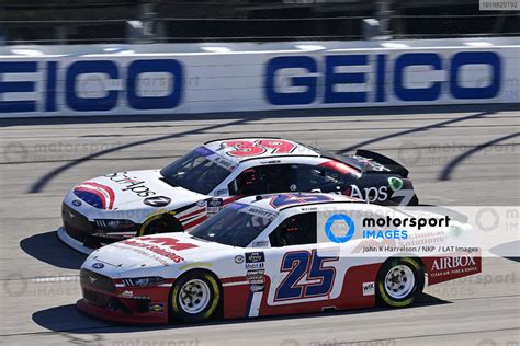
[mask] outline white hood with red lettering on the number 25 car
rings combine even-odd
[[[92,252],[82,267],[112,278],[174,276],[190,263],[228,254],[233,246],[196,240],[186,233],[128,239]]]

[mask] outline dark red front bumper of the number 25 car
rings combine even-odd
[[[123,287],[121,280],[81,269],[80,281],[83,298],[76,305],[88,315],[120,323],[168,323],[173,280],[146,288]]]

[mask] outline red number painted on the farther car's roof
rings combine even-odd
[[[290,153],[296,149],[296,146],[286,140],[261,139],[256,141],[248,140],[228,140],[223,143],[226,147],[233,147],[235,150],[228,151],[231,157],[258,157],[268,150],[271,153]]]

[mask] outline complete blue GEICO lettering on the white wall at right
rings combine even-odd
[[[468,85],[463,76],[470,65],[489,78]],[[472,100],[496,97],[501,80],[501,59],[494,51],[405,53],[395,59],[366,54],[331,55],[323,60],[284,56],[267,62],[264,91],[273,105],[387,102],[387,95],[404,102],[436,101],[444,94]]]

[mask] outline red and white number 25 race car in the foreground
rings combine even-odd
[[[93,251],[80,269],[77,307],[123,323],[191,323],[376,303],[404,308],[426,285],[482,270],[479,252],[441,246],[470,244],[467,223],[418,211],[423,220],[429,217],[426,227],[409,222],[402,229],[409,237],[396,238],[391,228],[380,239],[362,231],[357,216],[363,215],[384,221],[416,214],[336,194],[245,197],[188,232],[137,237]],[[414,244],[428,244],[428,252]],[[396,250],[365,253],[383,245]]]

